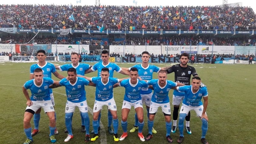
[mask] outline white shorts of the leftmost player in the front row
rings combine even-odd
[[[32,101],[32,105],[27,106],[26,110],[31,109],[36,112],[40,108],[43,108],[44,112],[55,112],[52,102],[50,100]]]

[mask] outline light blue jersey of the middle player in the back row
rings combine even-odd
[[[95,63],[95,64],[91,67],[91,70],[92,70],[92,71],[98,70],[98,76],[100,76],[100,74],[101,74],[101,69],[102,69],[102,68],[105,68],[105,67],[109,69],[109,77],[113,77],[114,70],[115,70],[116,72],[118,72],[118,73],[122,70],[122,68],[120,68],[117,64],[112,63],[112,62],[109,62],[107,65],[103,65],[102,62]]]

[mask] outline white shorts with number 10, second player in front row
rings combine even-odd
[[[79,103],[67,101],[65,113],[75,112],[76,106],[78,107],[80,112],[88,112],[88,106],[87,106],[87,102],[85,100],[85,101],[79,102]]]

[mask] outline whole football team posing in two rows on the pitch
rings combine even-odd
[[[56,66],[52,63],[46,62],[46,53],[44,50],[37,51],[38,63],[30,67],[30,80],[23,86],[23,93],[27,99],[27,107],[24,114],[24,132],[26,134],[26,141],[24,144],[29,144],[33,141],[32,136],[39,132],[39,120],[41,108],[47,113],[50,120],[50,134],[51,142],[56,142],[55,135],[58,134],[56,129],[56,113],[54,110],[54,97],[52,88],[65,86],[67,103],[65,108],[65,124],[68,133],[65,142],[73,138],[72,133],[72,117],[75,108],[80,110],[82,121],[82,132],[85,133],[85,142],[95,141],[99,138],[99,121],[101,109],[104,105],[108,107],[108,132],[113,134],[114,141],[124,140],[127,136],[127,117],[132,106],[135,109],[135,124],[130,130],[130,133],[138,130],[138,137],[141,141],[148,141],[152,138],[153,133],[157,133],[153,128],[154,117],[158,107],[162,108],[165,116],[166,125],[166,140],[172,143],[171,132],[175,133],[177,128],[177,119],[179,105],[181,105],[179,114],[179,133],[180,137],[178,143],[184,140],[183,129],[184,120],[186,118],[186,130],[191,134],[189,127],[190,110],[195,110],[197,116],[202,120],[202,136],[201,142],[208,143],[205,135],[208,130],[208,117],[206,109],[208,105],[208,91],[207,87],[201,83],[201,79],[196,73],[194,67],[187,65],[189,61],[188,54],[180,55],[180,64],[160,68],[155,65],[149,65],[149,53],[144,51],[142,53],[142,64],[135,65],[131,68],[120,68],[115,63],[108,61],[109,53],[103,50],[101,53],[102,62],[90,66],[85,63],[79,63],[77,53],[71,53],[71,64],[64,64]],[[67,71],[67,77],[60,75],[56,69],[60,71]],[[87,73],[98,70],[97,77],[86,77]],[[113,72],[119,72],[128,75],[127,78],[113,78]],[[152,79],[153,73],[157,72],[158,79]],[[175,82],[167,80],[167,74],[175,73]],[[51,79],[53,73],[60,81]],[[192,78],[191,85],[190,78]],[[48,76],[48,77],[45,77]],[[142,76],[141,79],[139,76]],[[179,77],[187,77],[186,79],[179,79]],[[88,106],[86,102],[85,85],[95,86],[95,103],[93,106],[93,137],[90,137],[90,120],[88,116]],[[123,133],[118,137],[119,121],[117,118],[117,108],[113,98],[113,88],[122,86],[125,88],[124,100],[121,110],[121,127]],[[28,89],[31,91],[29,97]],[[170,89],[174,89],[172,104],[173,110],[173,126],[171,121],[171,108],[168,93]],[[154,92],[152,92],[154,90]],[[204,103],[201,99],[204,99]],[[143,136],[142,130],[144,126],[143,120],[143,104],[147,108],[148,117],[148,135]],[[34,116],[34,130],[30,125],[30,121]],[[111,127],[113,121],[113,129]]]

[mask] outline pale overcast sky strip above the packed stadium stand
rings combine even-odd
[[[77,1],[81,1],[81,3],[77,3]],[[135,5],[133,3],[134,0],[100,0],[101,5]],[[145,5],[150,5],[150,6],[177,6],[177,5],[183,5],[183,6],[214,6],[214,5],[222,5],[223,0],[210,0],[210,1],[199,1],[199,0],[182,0],[182,1],[177,1],[177,0],[172,0],[172,1],[167,1],[167,0],[135,0],[137,1],[137,6],[145,6]],[[256,11],[256,1],[253,0],[227,0],[228,4],[232,3],[239,3],[242,2],[242,6],[250,6],[252,7],[253,11]],[[63,5],[63,4],[73,4],[73,5],[95,5],[95,0],[40,0],[40,1],[35,1],[35,0],[1,0],[0,4],[55,4],[55,5]]]

